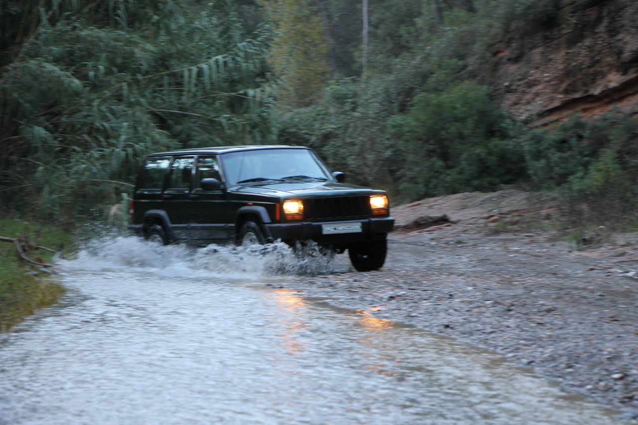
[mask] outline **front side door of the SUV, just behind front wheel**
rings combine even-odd
[[[214,155],[197,157],[195,184],[191,191],[191,230],[193,239],[202,243],[206,241],[227,240],[230,237],[230,223],[223,212],[226,209],[226,191],[204,190],[202,179],[218,179],[223,181],[219,172],[219,161]]]

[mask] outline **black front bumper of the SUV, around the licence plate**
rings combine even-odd
[[[329,234],[322,233],[322,225],[326,224],[361,223],[361,232]],[[299,223],[272,223],[264,225],[271,239],[282,241],[304,241],[312,239],[315,242],[334,246],[364,244],[371,241],[382,241],[394,228],[394,218],[362,218],[360,220],[339,221],[301,221]]]

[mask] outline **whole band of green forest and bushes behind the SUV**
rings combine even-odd
[[[296,144],[395,205],[516,184],[635,227],[635,116],[540,126],[494,99],[494,46],[560,26],[561,7],[0,0],[0,214],[70,225],[125,211],[147,153]]]

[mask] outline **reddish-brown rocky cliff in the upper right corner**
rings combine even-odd
[[[561,0],[555,23],[494,47],[493,93],[542,126],[576,112],[638,115],[638,1]]]

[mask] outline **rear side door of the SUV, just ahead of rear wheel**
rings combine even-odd
[[[191,188],[195,156],[178,156],[170,165],[166,189],[162,193],[163,206],[168,214],[176,239],[191,239]]]

